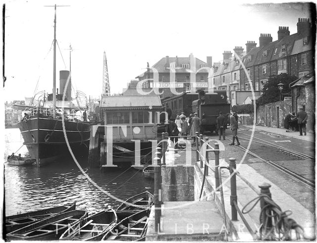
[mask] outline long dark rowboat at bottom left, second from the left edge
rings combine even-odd
[[[54,240],[73,224],[88,216],[86,210],[72,210],[42,219],[6,235],[7,240]]]

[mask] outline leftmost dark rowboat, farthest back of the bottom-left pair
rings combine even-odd
[[[54,214],[75,210],[76,203],[46,208],[33,212],[26,212],[5,217],[5,232],[10,233],[36,221],[51,217]]]

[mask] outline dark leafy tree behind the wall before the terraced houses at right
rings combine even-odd
[[[279,100],[280,91],[278,89],[278,84],[284,84],[282,95],[291,94],[291,89],[289,84],[297,79],[296,76],[291,76],[286,73],[279,74],[277,76],[271,76],[268,78],[268,81],[264,84],[263,94],[256,101],[257,105],[263,105],[267,103],[272,103]]]

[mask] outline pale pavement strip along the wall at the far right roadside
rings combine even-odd
[[[241,127],[246,127],[246,128],[253,128],[253,125],[241,125],[239,128],[241,129]],[[287,136],[290,138],[296,138],[296,139],[300,139],[300,140],[305,140],[305,141],[309,141],[309,142],[315,142],[315,134],[313,133],[307,133],[307,135],[305,136],[303,134],[303,136],[299,135],[299,132],[286,132],[286,129],[284,128],[274,128],[274,127],[264,127],[264,126],[255,126],[256,130],[262,130],[268,133],[274,133],[274,134],[278,134],[278,135],[283,135],[283,136]]]

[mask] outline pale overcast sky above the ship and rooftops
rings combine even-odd
[[[223,2],[223,4],[222,4]],[[72,45],[72,82],[87,97],[102,93],[103,55],[106,51],[110,92],[122,88],[145,71],[147,62],[189,56],[206,61],[222,59],[224,50],[259,46],[261,33],[277,40],[278,26],[297,32],[298,18],[309,18],[305,3],[256,4],[254,1],[210,0],[8,0],[5,11],[4,100],[32,97],[53,88],[53,7],[57,7],[56,80],[69,70]],[[260,1],[257,1],[260,2]],[[64,65],[64,62],[65,65]]]

